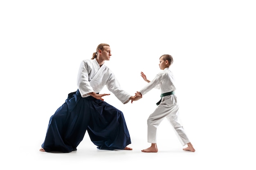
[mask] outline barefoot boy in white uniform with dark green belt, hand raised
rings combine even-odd
[[[191,142],[186,136],[184,129],[180,122],[178,121],[178,111],[179,105],[177,103],[177,97],[175,96],[175,86],[174,86],[174,77],[173,73],[169,69],[169,66],[173,63],[173,57],[171,55],[165,54],[159,58],[159,67],[161,72],[159,72],[155,78],[150,82],[146,75],[141,72],[141,77],[148,82],[148,84],[142,88],[139,92],[141,95],[145,95],[151,89],[158,88],[161,91],[161,100],[157,103],[157,108],[155,111],[148,117],[148,143],[151,143],[149,148],[141,150],[142,152],[158,152],[156,144],[156,133],[157,127],[161,121],[166,117],[171,123],[177,137],[179,138],[182,146],[187,145],[187,148],[183,150],[188,150],[195,152]]]

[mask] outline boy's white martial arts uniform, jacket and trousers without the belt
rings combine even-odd
[[[155,78],[149,82],[139,92],[142,95],[148,93],[153,88],[160,89],[161,93],[175,91],[174,76],[169,68],[159,72]],[[186,136],[183,126],[179,122],[179,105],[175,95],[168,95],[162,97],[161,103],[157,106],[155,111],[148,117],[148,142],[155,144],[157,142],[157,127],[161,121],[166,117],[175,129],[176,135],[180,140],[182,146],[188,144],[190,141]]]

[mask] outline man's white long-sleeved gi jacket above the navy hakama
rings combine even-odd
[[[99,93],[105,85],[122,103],[126,104],[130,101],[132,95],[121,88],[108,66],[105,64],[99,66],[96,59],[83,60],[77,76],[77,86],[81,96],[88,97],[88,93]]]

